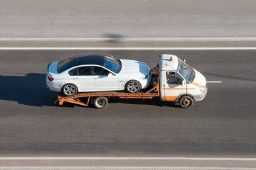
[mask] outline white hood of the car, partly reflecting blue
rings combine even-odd
[[[120,74],[149,74],[149,66],[144,62],[135,60],[120,60],[122,62],[122,69]]]

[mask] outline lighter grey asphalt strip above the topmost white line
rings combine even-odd
[[[1,0],[1,38],[256,37],[254,0]]]

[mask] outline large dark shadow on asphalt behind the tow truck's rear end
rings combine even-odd
[[[58,106],[54,104],[54,97],[58,93],[46,88],[46,74],[0,75],[0,82],[1,100],[17,101],[28,106]]]

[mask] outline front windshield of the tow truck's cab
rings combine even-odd
[[[185,62],[178,58],[178,72],[188,81],[192,82],[195,78],[195,71]]]

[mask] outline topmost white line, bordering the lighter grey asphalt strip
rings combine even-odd
[[[123,41],[158,41],[158,40],[177,40],[177,41],[255,41],[256,37],[216,37],[216,38],[0,38],[0,40],[96,40],[96,41],[105,41],[105,40],[123,40]]]

